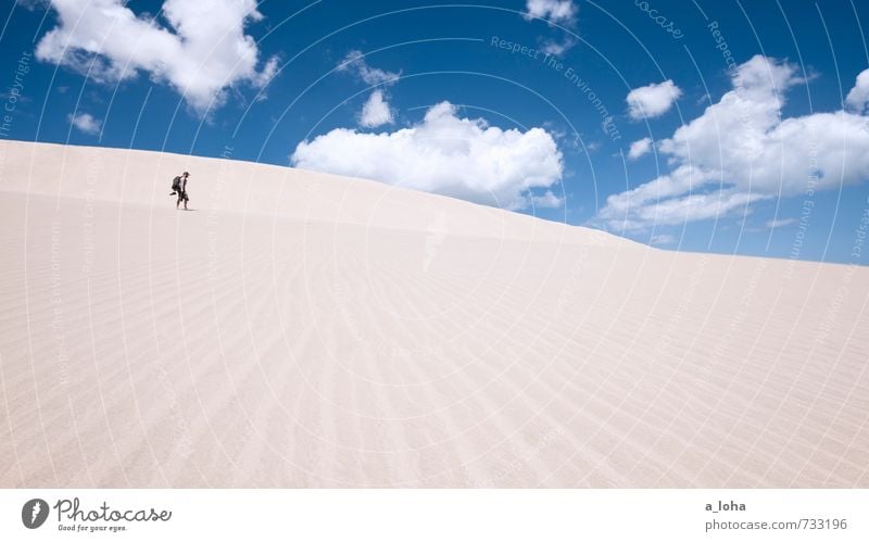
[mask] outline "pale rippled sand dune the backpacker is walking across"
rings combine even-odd
[[[0,487],[869,487],[866,268],[241,162],[0,155]]]

